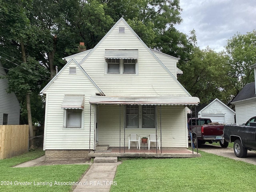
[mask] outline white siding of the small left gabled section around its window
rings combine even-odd
[[[76,67],[76,74],[69,74],[69,67]],[[98,90],[88,78],[70,63],[62,75],[58,76],[46,90],[46,117],[44,132],[44,149],[89,149],[90,104],[89,98]],[[68,89],[68,90],[67,90]],[[84,128],[64,129],[64,110],[61,108],[65,94],[84,95]],[[94,105],[92,105],[91,140],[94,140]],[[92,144],[92,143],[91,143]],[[93,146],[91,146],[92,148]]]

